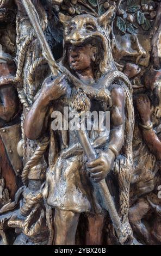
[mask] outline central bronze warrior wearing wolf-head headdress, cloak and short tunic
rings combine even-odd
[[[102,243],[108,206],[99,182],[107,179],[112,169],[119,180],[120,218],[132,236],[128,200],[133,169],[134,113],[131,84],[117,71],[110,46],[110,22],[114,11],[112,7],[99,18],[91,15],[72,18],[60,14],[65,33],[64,54],[59,65],[65,66],[80,83],[62,74],[48,77],[24,121],[24,132],[29,139],[50,132],[44,197],[55,209],[55,245],[75,245],[82,213],[89,221],[86,243]],[[63,113],[64,107],[81,113],[110,111],[109,136],[102,135],[99,129],[88,132],[90,143],[98,154],[96,160],[87,161],[76,131],[49,129],[53,110]]]

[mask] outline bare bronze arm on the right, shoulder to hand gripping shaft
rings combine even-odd
[[[96,160],[86,163],[86,169],[89,170],[91,178],[96,182],[106,178],[124,142],[125,92],[123,88],[116,86],[111,94],[113,109],[110,113],[112,131],[110,133],[109,148],[106,151],[101,151]]]

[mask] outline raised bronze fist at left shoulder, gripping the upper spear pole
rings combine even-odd
[[[67,91],[67,83],[65,80],[65,75],[60,75],[55,78],[54,81],[45,83],[42,87],[42,93],[48,102],[53,100],[58,100],[61,96],[64,96]]]

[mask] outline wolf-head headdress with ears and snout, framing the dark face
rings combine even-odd
[[[100,48],[100,51],[98,50],[100,56],[97,59],[100,76],[107,70],[114,69],[110,44],[110,23],[113,20],[114,12],[115,8],[112,6],[101,17],[83,14],[72,18],[59,14],[60,22],[65,28],[63,65],[69,68],[67,63],[67,47],[69,45],[79,46],[89,42]]]

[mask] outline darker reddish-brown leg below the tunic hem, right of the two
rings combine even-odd
[[[102,231],[104,214],[88,216],[88,230],[86,233],[86,245],[102,245]]]

